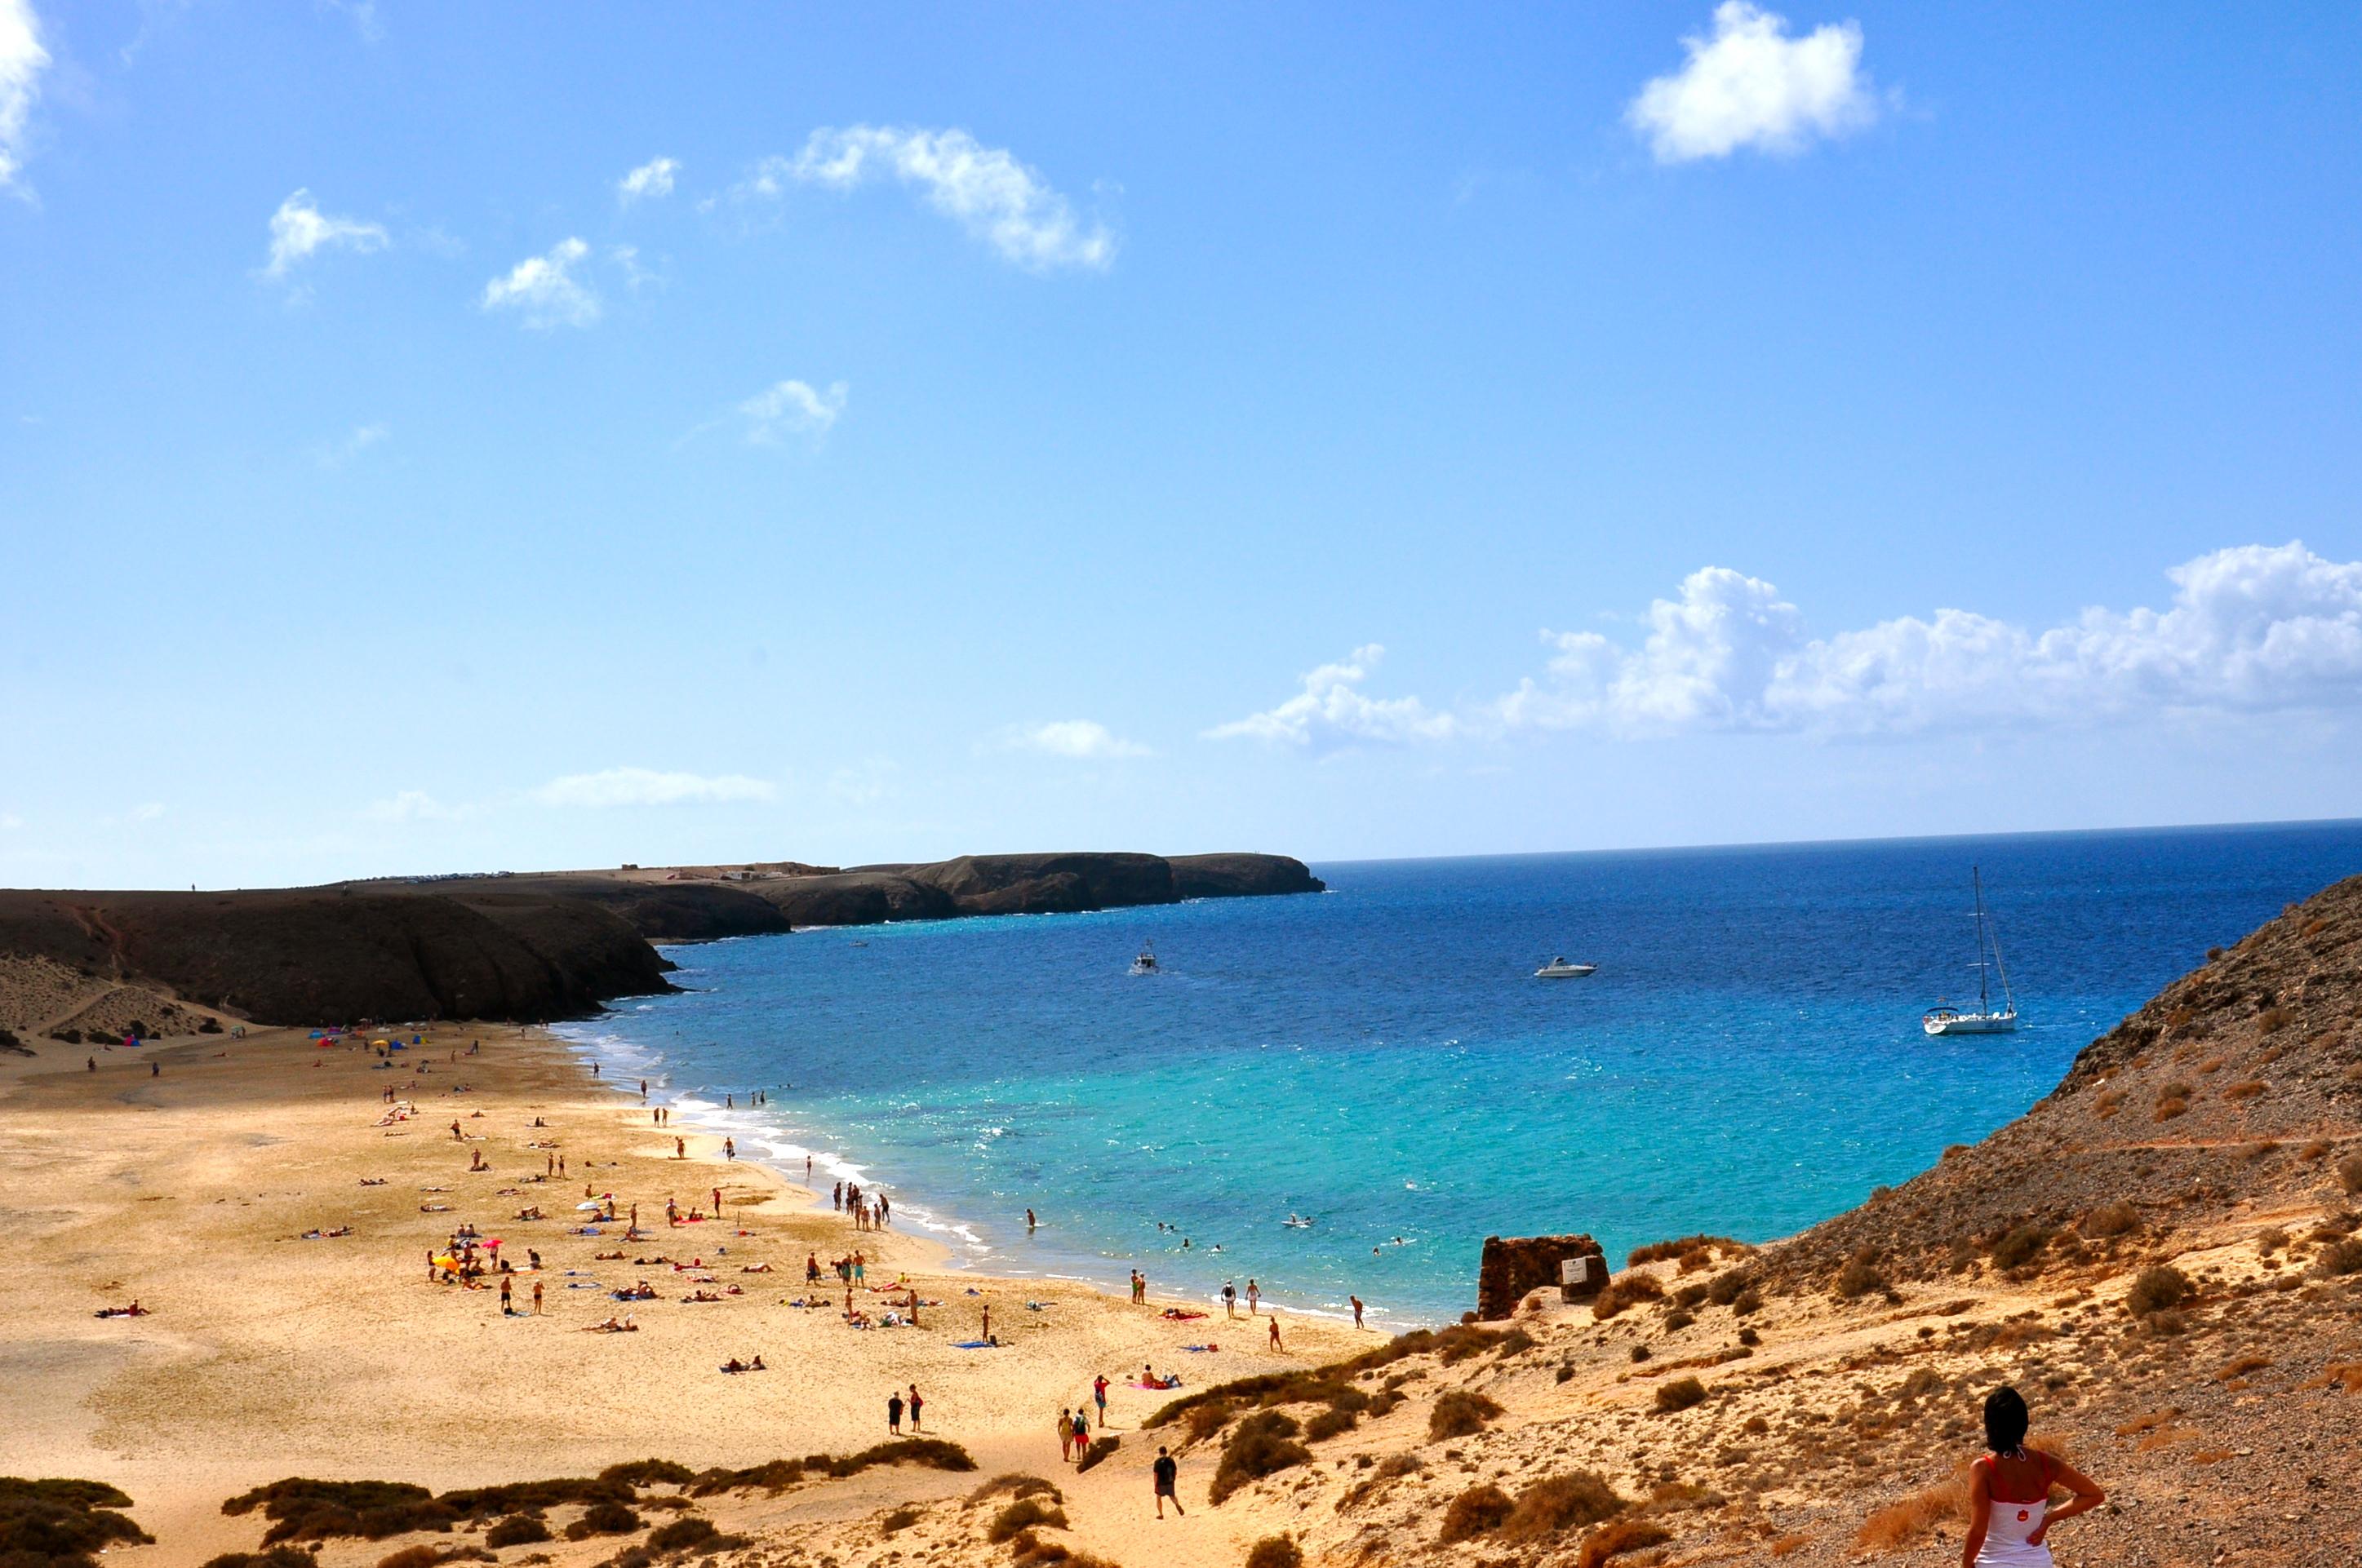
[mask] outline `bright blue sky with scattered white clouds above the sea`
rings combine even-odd
[[[0,883],[2357,810],[2353,7],[0,0]]]

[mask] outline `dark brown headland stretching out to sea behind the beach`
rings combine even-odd
[[[1285,855],[961,855],[413,876],[239,893],[0,890],[0,956],[64,1039],[231,1023],[583,1018],[673,989],[659,942],[1320,893]],[[31,1020],[28,1013],[28,1020]]]

